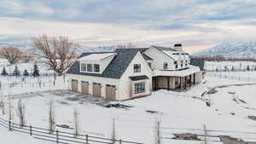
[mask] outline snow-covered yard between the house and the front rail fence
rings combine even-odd
[[[247,116],[256,116],[254,114],[256,102],[253,101],[256,85],[217,88],[218,92],[215,94],[201,97],[205,91],[219,85],[248,83],[209,77],[205,81],[205,84],[199,84],[187,92],[159,90],[148,97],[121,102],[131,106],[128,109],[101,107],[83,99],[69,101],[67,97],[75,97],[76,94],[66,91],[27,93],[6,97],[5,101],[10,101],[12,107],[16,109],[16,102],[22,98],[26,105],[26,124],[48,128],[49,101],[55,101],[57,124],[67,124],[73,127],[73,111],[77,109],[81,134],[110,138],[112,120],[115,118],[118,138],[147,144],[154,143],[154,124],[158,117],[162,121],[162,136],[166,138],[172,138],[172,134],[176,133],[203,134],[204,124],[209,130],[255,131],[256,122]],[[15,94],[18,93],[15,92]],[[24,91],[20,90],[20,93]],[[207,107],[206,101],[211,102],[211,107]],[[146,112],[148,110],[159,112],[159,114]],[[13,112],[14,121],[18,123],[19,119],[15,116],[15,110]],[[1,117],[8,118],[7,115]],[[73,132],[73,130],[65,131]],[[247,141],[256,141],[255,136],[245,133],[212,132],[210,135],[232,135]],[[167,139],[164,141],[166,143],[192,143],[192,141]],[[200,141],[193,142],[200,143]]]

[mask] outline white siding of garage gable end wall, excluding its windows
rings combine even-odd
[[[141,64],[141,72],[133,72],[134,64]],[[134,82],[132,83],[129,77],[141,75],[146,75],[149,78],[146,80],[145,83],[146,91],[141,94],[134,94]],[[127,100],[141,95],[150,95],[152,91],[152,76],[153,72],[148,66],[148,63],[144,60],[143,55],[140,52],[138,52],[137,55],[133,58],[133,60],[131,60],[130,65],[127,67],[124,74],[120,78],[119,95],[117,96],[118,99]],[[140,82],[143,81],[137,81],[135,83]]]

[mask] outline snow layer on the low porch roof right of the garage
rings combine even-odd
[[[154,70],[155,76],[172,76],[172,77],[185,77],[193,74],[195,72],[200,72],[200,68],[198,66],[189,65],[188,69],[177,70],[177,71],[162,71],[162,70]]]

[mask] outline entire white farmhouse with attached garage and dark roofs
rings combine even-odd
[[[67,71],[67,78],[74,92],[121,101],[157,89],[180,91],[201,83],[201,69],[189,63],[182,44],[173,49],[116,49],[82,54]]]

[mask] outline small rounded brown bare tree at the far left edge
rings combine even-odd
[[[22,52],[15,47],[3,47],[0,51],[4,58],[9,60],[11,65],[15,64],[20,59]]]

